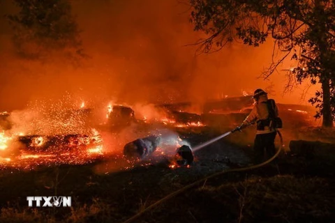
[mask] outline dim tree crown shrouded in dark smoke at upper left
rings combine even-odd
[[[68,0],[13,0],[20,12],[7,15],[13,26],[17,54],[26,59],[45,59],[50,52],[84,56],[80,30]]]

